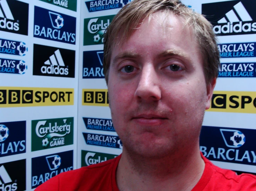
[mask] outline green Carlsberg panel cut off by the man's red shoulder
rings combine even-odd
[[[81,153],[81,167],[87,167],[90,164],[97,164],[100,162],[104,162],[109,159],[114,159],[117,157],[115,154],[106,154],[101,152],[93,152],[93,151],[83,151]]]

